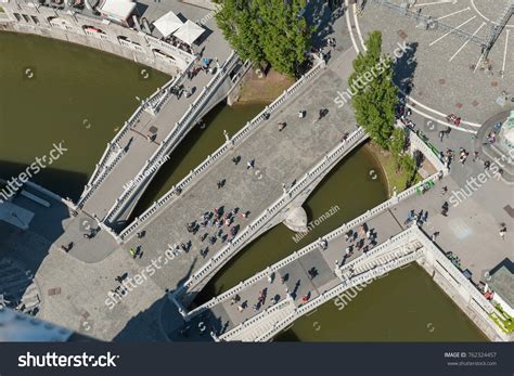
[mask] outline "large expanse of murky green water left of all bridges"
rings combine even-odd
[[[0,33],[0,178],[17,176],[62,142],[67,151],[34,181],[77,199],[137,96],[168,80],[78,44]]]

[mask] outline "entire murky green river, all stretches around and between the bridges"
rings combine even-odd
[[[63,141],[67,151],[35,177],[76,199],[107,141],[144,98],[169,77],[120,57],[46,38],[0,33],[0,178],[16,176]],[[142,69],[145,69],[142,72]],[[147,77],[147,78],[145,78]],[[264,104],[219,105],[172,153],[134,213],[140,213],[224,141]],[[310,220],[301,239],[279,225],[232,259],[196,302],[209,299],[386,199],[378,163],[367,147],[351,153],[305,204]],[[464,313],[415,263],[383,277],[343,310],[333,302],[298,320],[275,340],[485,340]]]

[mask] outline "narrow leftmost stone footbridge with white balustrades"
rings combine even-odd
[[[232,52],[214,76],[200,73],[189,83],[183,72],[158,89],[107,145],[77,207],[112,226],[123,223],[169,154],[227,96],[236,73],[247,67]],[[172,91],[182,83],[205,87],[178,99]]]

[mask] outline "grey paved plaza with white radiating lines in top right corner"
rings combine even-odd
[[[497,21],[507,2],[459,0],[424,7],[426,1],[417,1],[412,10],[485,38],[491,22]],[[458,114],[464,121],[481,125],[496,113],[514,106],[512,102],[504,106],[497,103],[503,92],[514,95],[514,20],[511,18],[490,51],[486,68],[477,68],[479,46],[440,29],[425,30],[414,20],[374,1],[368,1],[363,15],[355,20],[357,42],[370,31],[381,30],[385,53],[393,54],[398,43],[410,46],[407,56],[398,60],[401,75],[397,79],[412,79],[409,93],[419,102],[414,103],[419,111],[438,120],[445,117],[439,114]]]

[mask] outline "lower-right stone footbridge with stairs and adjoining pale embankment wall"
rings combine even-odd
[[[438,178],[429,178],[434,179]],[[408,196],[417,187],[406,191],[399,200],[415,200]],[[344,307],[345,291],[361,290],[389,271],[416,261],[489,338],[509,340],[488,315],[492,304],[423,230],[416,224],[394,224],[390,207],[395,205],[393,200],[382,204],[193,311],[184,311],[185,328],[171,333],[171,339],[179,340],[184,330],[189,338],[202,338],[202,328],[208,328],[216,341],[268,341],[330,300],[337,304],[339,299]],[[360,233],[362,229],[365,234]],[[352,233],[357,243],[362,239],[368,246],[348,251],[357,244]]]

